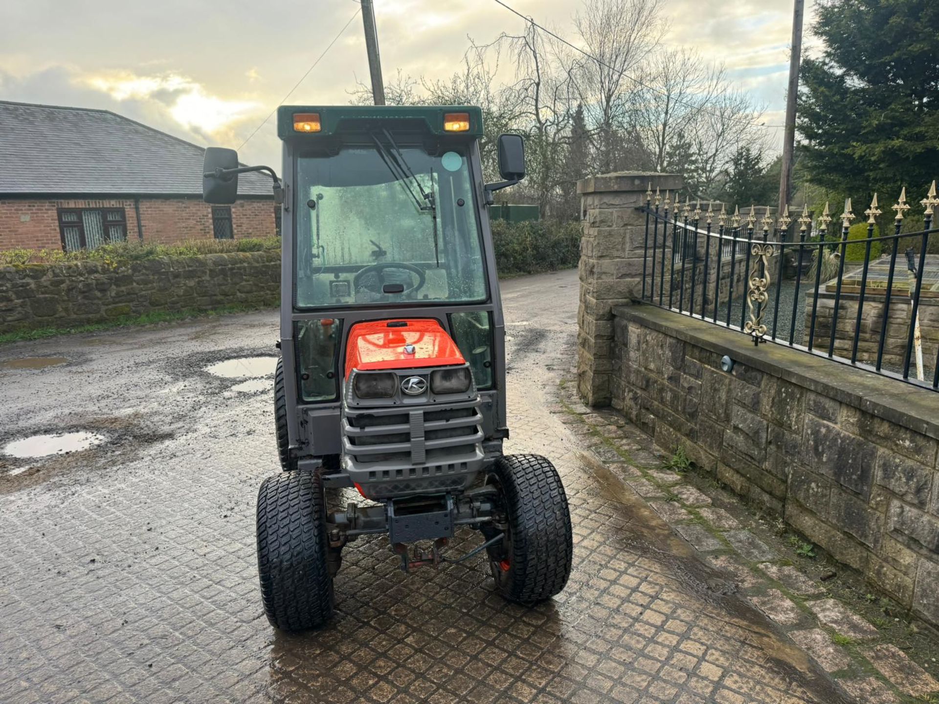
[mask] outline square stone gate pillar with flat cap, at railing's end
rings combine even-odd
[[[613,306],[639,298],[646,216],[637,208],[652,191],[674,193],[682,176],[622,172],[577,182],[581,196],[580,306],[577,311],[577,389],[588,406],[608,406]],[[661,247],[661,234],[659,235]],[[669,250],[670,251],[670,250]],[[661,256],[661,249],[659,250]]]

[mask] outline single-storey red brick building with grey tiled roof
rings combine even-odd
[[[274,235],[269,177],[242,174],[234,205],[209,206],[203,153],[106,110],[0,100],[0,251]]]

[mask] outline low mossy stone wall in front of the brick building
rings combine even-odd
[[[0,267],[0,333],[155,311],[276,306],[280,274],[279,252]]]

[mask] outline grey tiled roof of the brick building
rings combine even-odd
[[[0,100],[0,194],[201,195],[204,153],[107,110]],[[239,195],[271,196],[269,177]]]

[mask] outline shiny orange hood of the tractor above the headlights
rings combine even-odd
[[[408,344],[414,351],[405,350]],[[346,344],[346,378],[353,369],[446,367],[465,364],[454,341],[433,319],[376,320],[357,323]]]

